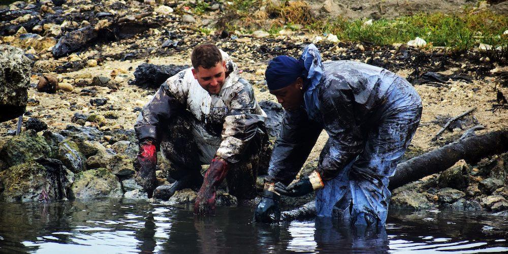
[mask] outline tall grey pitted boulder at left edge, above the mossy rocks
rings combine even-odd
[[[20,116],[26,107],[31,61],[16,47],[0,45],[0,122]]]

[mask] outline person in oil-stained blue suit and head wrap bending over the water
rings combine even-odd
[[[286,112],[255,220],[278,220],[280,195],[316,191],[317,216],[384,225],[389,177],[422,115],[416,90],[383,68],[349,60],[322,62],[313,44],[298,60],[275,57],[265,75],[270,93]],[[329,138],[319,166],[287,186],[323,129]]]

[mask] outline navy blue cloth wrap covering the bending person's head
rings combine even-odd
[[[301,63],[291,56],[279,55],[273,58],[265,72],[268,89],[277,90],[292,84],[302,76],[302,71]]]

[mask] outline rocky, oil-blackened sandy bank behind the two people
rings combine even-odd
[[[3,193],[10,191],[9,199],[38,201],[41,197],[42,201],[54,200],[61,198],[57,195],[59,193],[78,199],[146,199],[146,193],[132,178],[136,171],[133,161],[138,149],[132,130],[135,118],[160,85],[157,83],[175,73],[176,68],[188,66],[192,48],[203,42],[215,43],[239,63],[241,75],[253,85],[258,101],[275,102],[264,85],[264,70],[269,59],[279,54],[298,57],[302,48],[310,42],[316,42],[325,60],[358,60],[405,77],[415,84],[424,105],[422,123],[404,156],[405,160],[449,144],[475,125],[485,127],[485,130],[479,131],[480,134],[508,127],[505,120],[508,113],[505,100],[508,96],[508,69],[505,63],[480,49],[449,53],[442,48],[421,49],[405,44],[380,47],[369,42],[332,42],[326,37],[318,40],[317,36],[324,36],[309,34],[303,28],[284,30],[276,36],[247,35],[235,31],[208,34],[197,27],[212,29],[217,21],[213,16],[220,16],[221,9],[206,10],[207,15],[191,18],[188,16],[191,13],[180,11],[184,9],[180,3],[153,1],[105,1],[97,5],[91,1],[68,1],[62,5],[52,1],[29,1],[15,3],[0,11],[5,14],[0,20],[2,43],[24,50],[26,57],[31,59],[32,68],[23,116],[24,134],[17,137],[23,139],[21,144],[24,147],[12,145],[16,139],[12,136],[16,120],[0,123],[0,146],[7,156],[0,161],[3,179],[0,189]],[[134,24],[138,27],[141,23],[144,24],[143,29],[131,29],[132,26],[129,26]],[[103,33],[106,34],[101,36]],[[73,40],[84,43],[78,45]],[[157,74],[154,70],[158,71]],[[66,88],[53,93],[39,91],[39,80],[47,74],[53,75],[58,84]],[[451,118],[471,107],[477,107],[477,110],[449,125],[436,138],[436,133]],[[278,107],[271,110],[280,112]],[[272,122],[274,126],[276,123]],[[323,133],[301,174],[316,166],[326,139],[326,133]],[[65,168],[56,170],[56,166],[52,166],[49,170],[38,162],[41,158],[58,160]],[[162,158],[158,162],[159,183],[171,182],[165,175],[168,164]],[[400,192],[394,192],[394,200],[399,201],[394,202],[393,207],[414,209],[419,204],[404,202],[417,200],[427,203],[428,207],[445,207],[445,204],[478,207],[470,205],[477,202],[487,211],[503,208],[507,197],[504,189],[497,190],[499,185],[495,184],[499,183],[499,179],[493,180],[498,188],[485,188],[489,192],[484,192],[478,187],[480,193],[468,196],[468,187],[475,183],[480,186],[481,181],[493,179],[494,175],[485,172],[476,175],[473,169],[480,169],[480,166],[467,167],[469,171],[466,170],[464,175],[482,179],[470,179],[467,186],[459,188],[437,185],[439,176],[424,178],[427,185],[420,186],[418,181],[412,183],[417,185],[406,185],[411,186],[408,189],[418,189],[418,194],[403,192],[402,188]],[[28,178],[23,180],[8,173],[19,172],[20,168],[28,169],[23,171]],[[21,184],[29,189],[27,184],[33,183],[31,180],[47,178],[50,171],[60,176],[54,179],[69,180],[44,181],[35,188],[37,194],[29,195],[19,194],[24,192],[23,188],[18,192],[12,187]],[[72,182],[69,178],[71,173],[74,175]],[[55,185],[57,192],[52,190]],[[47,195],[43,194],[43,190]],[[232,196],[226,195],[226,192],[223,194],[224,204],[235,204]],[[7,194],[2,195],[5,197]],[[404,195],[410,199],[404,201]],[[451,198],[446,198],[447,195]],[[437,200],[434,200],[435,197]],[[168,202],[192,203],[194,199],[193,190],[184,190]],[[294,207],[312,199],[309,195],[283,202],[287,207]],[[399,203],[401,205],[397,205]]]

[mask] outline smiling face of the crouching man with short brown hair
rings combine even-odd
[[[209,69],[200,66],[198,70],[192,69],[192,73],[203,89],[210,94],[218,94],[226,79],[226,62],[217,62],[214,67]]]

